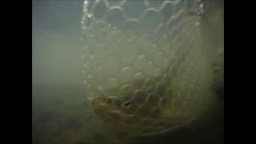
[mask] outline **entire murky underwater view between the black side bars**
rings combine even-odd
[[[33,0],[32,143],[224,143],[224,0]]]

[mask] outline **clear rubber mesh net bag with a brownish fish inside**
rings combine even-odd
[[[85,1],[84,74],[90,106],[134,134],[176,130],[203,114],[213,70],[199,1]]]

